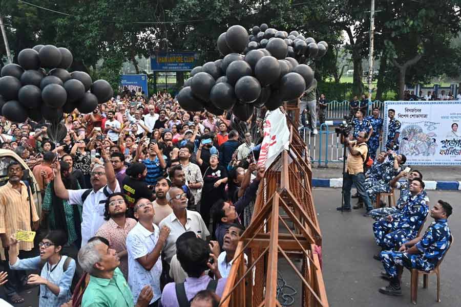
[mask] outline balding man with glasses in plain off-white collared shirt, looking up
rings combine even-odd
[[[166,216],[160,222],[159,228],[167,226],[170,228],[170,235],[166,238],[163,248],[163,257],[170,264],[171,258],[176,254],[176,240],[186,231],[193,231],[203,240],[209,236],[209,231],[203,222],[200,213],[187,210],[187,194],[177,187],[172,187],[168,191],[167,199],[173,208],[173,213]]]

